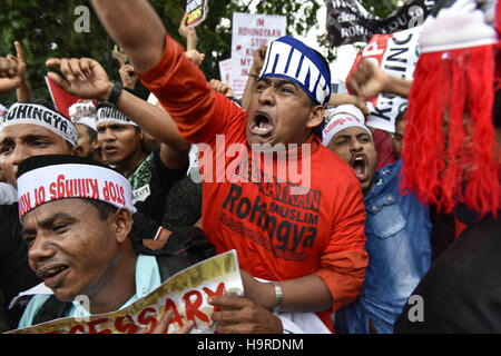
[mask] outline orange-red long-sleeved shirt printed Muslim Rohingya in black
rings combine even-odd
[[[224,174],[242,171],[237,168],[240,160],[234,160],[226,148],[234,144],[248,147],[247,113],[213,91],[168,36],[160,62],[140,77],[173,116],[179,132],[191,142],[207,144],[206,152],[216,154],[207,156],[208,160],[204,154],[200,165],[205,178],[212,172],[220,181],[203,182],[203,230],[217,251],[235,248],[240,268],[258,278],[318,275],[332,294],[333,310],[352,301],[362,289],[369,263],[363,197],[353,169],[312,138],[308,194],[291,195],[289,175],[286,181],[274,176],[264,181],[262,176],[261,182],[230,182]],[[223,160],[216,160],[217,155]],[[299,167],[303,159],[307,161],[299,156]],[[243,167],[248,171],[248,164]],[[274,161],[274,169],[283,167]],[[330,313],[318,315],[332,329]]]

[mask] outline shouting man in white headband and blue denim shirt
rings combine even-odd
[[[340,106],[324,128],[323,145],[353,167],[362,185],[369,267],[364,288],[338,309],[338,333],[393,333],[407,298],[431,264],[429,210],[412,194],[401,195],[402,161],[377,172],[377,155],[365,117],[354,106]]]

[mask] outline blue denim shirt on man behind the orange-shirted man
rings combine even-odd
[[[380,169],[364,198],[369,266],[360,296],[335,314],[336,333],[380,334],[393,325],[431,264],[429,209],[412,195],[400,195],[402,160]]]

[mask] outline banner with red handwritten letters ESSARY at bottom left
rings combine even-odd
[[[6,334],[135,334],[153,333],[164,313],[173,310],[168,333],[193,320],[193,334],[214,333],[214,307],[207,297],[244,294],[236,250],[203,260],[165,280],[127,308],[79,318],[60,318]]]

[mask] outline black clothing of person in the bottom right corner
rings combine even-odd
[[[501,216],[469,226],[432,264],[405,306],[395,333],[501,333]],[[414,309],[412,309],[414,308]],[[415,313],[414,313],[415,312]],[[415,318],[413,318],[415,319]]]

